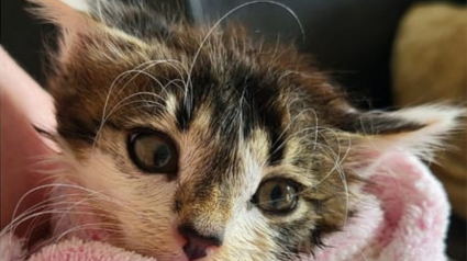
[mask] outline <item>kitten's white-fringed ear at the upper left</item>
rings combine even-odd
[[[34,4],[31,11],[35,15],[58,27],[58,50],[49,49],[53,61],[51,69],[56,75],[68,73],[80,81],[73,87],[86,87],[82,77],[96,76],[96,71],[102,71],[101,75],[109,78],[115,77],[109,73],[127,70],[129,65],[125,63],[137,64],[149,48],[138,37],[109,26],[99,18],[100,4],[110,7],[112,0],[29,1]],[[102,10],[101,16],[105,15],[112,16]],[[78,79],[77,75],[81,78]]]

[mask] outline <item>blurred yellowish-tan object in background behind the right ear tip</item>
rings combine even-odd
[[[467,105],[467,7],[424,3],[403,18],[392,54],[398,105],[457,101]],[[467,124],[467,123],[466,123]],[[453,137],[432,170],[453,211],[467,219],[467,132]]]

